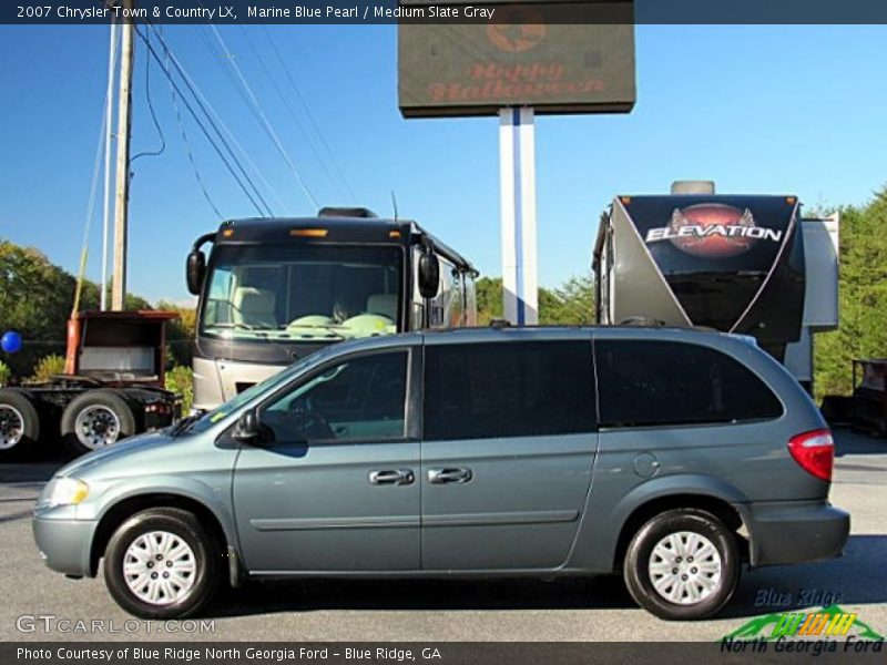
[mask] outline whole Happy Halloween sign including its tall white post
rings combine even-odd
[[[429,2],[399,4],[424,12]],[[503,315],[512,324],[532,325],[539,320],[533,117],[632,110],[634,3],[435,4],[457,19],[414,18],[398,25],[398,105],[404,117],[499,115]],[[495,12],[480,14],[478,6]]]

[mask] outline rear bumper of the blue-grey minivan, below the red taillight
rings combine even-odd
[[[745,507],[753,566],[805,563],[839,556],[850,515],[827,501],[779,501]]]

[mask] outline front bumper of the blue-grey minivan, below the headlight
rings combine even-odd
[[[47,565],[65,575],[92,576],[90,549],[98,522],[34,515],[34,542]]]

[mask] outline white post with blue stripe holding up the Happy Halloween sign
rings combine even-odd
[[[499,111],[502,314],[518,326],[539,323],[533,110]]]

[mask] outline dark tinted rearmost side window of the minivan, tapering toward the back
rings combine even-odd
[[[778,418],[773,391],[715,349],[672,341],[595,341],[601,427]]]

